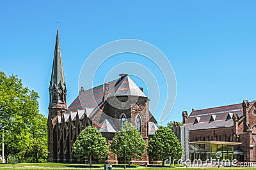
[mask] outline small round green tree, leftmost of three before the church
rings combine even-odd
[[[96,127],[86,127],[77,136],[73,149],[74,157],[90,159],[90,166],[92,166],[92,157],[94,159],[103,159],[108,155],[107,140]]]

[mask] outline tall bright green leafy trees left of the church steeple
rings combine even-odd
[[[46,124],[38,116],[38,94],[34,90],[23,87],[17,76],[6,76],[0,71],[0,130],[4,131],[4,157],[15,157],[19,162],[26,162],[24,153],[35,146],[35,140],[44,145],[41,152],[47,152],[47,134],[42,133]],[[35,129],[35,126],[38,126]],[[34,129],[33,129],[34,128]],[[46,130],[45,130],[46,131]],[[39,137],[33,133],[42,133]],[[34,140],[34,141],[33,141]],[[46,149],[45,149],[46,148]]]

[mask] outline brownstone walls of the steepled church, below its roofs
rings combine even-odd
[[[109,97],[107,102],[103,104],[103,106],[93,115],[92,118],[92,126],[98,127],[100,123],[102,123],[105,119],[112,119],[115,122],[117,131],[121,129],[121,120],[120,118],[124,114],[127,118],[127,121],[131,122],[134,127],[136,127],[136,118],[140,116],[141,118],[141,136],[145,140],[148,146],[148,119],[149,119],[149,111],[148,111],[148,99],[147,97],[130,97],[129,102],[127,97]],[[109,104],[111,103],[111,104]],[[125,103],[125,106],[117,106],[117,104]],[[51,104],[50,104],[51,106]],[[63,105],[58,104],[49,106],[49,118],[56,117],[56,115],[60,114],[60,110],[65,110]],[[61,107],[61,108],[58,108]],[[51,114],[50,114],[51,113]],[[54,115],[54,117],[52,116]],[[86,115],[83,119],[83,127],[80,126],[79,118],[76,117],[76,120],[72,124],[71,117],[68,122],[65,123],[65,120],[61,118],[61,124],[55,125],[54,129],[52,128],[52,121],[48,121],[48,132],[49,132],[49,161],[50,162],[81,162],[81,160],[74,157],[74,152],[72,149],[73,143],[76,141],[79,133],[88,125],[88,118]],[[66,127],[68,125],[68,128]],[[74,127],[73,127],[74,126]],[[110,146],[115,133],[111,132],[102,132],[102,136],[107,139],[108,146]],[[148,152],[141,155],[141,159],[131,160],[134,164],[148,164]],[[109,155],[106,162],[111,164],[117,164],[118,158],[109,148]]]

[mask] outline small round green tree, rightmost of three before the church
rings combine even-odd
[[[148,152],[151,159],[164,160],[173,159],[179,160],[182,156],[182,146],[172,129],[168,127],[159,127],[154,133],[154,136],[148,141]]]

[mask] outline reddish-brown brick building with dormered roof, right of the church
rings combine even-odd
[[[221,141],[241,143],[234,146],[240,161],[256,161],[256,102],[182,111],[183,124],[189,127],[189,141]]]

